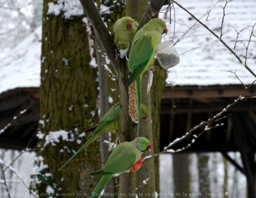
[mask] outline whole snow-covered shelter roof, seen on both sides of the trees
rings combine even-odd
[[[217,0],[180,0],[183,7],[189,10],[195,17],[204,22],[210,29],[220,35],[221,19],[225,5],[224,0],[216,4]],[[216,4],[214,7],[213,5]],[[207,11],[211,10],[209,16]],[[236,72],[244,84],[251,84],[255,78],[249,73],[244,66],[239,63],[230,51],[223,46],[209,31],[204,27],[195,24],[195,20],[190,17],[184,10],[175,5],[176,25],[175,38],[179,42],[175,47],[180,55],[180,63],[168,70],[167,83],[172,85],[228,85],[240,84],[235,79],[235,75],[230,72]],[[222,39],[234,48],[237,33],[240,32],[237,42],[236,53],[244,61],[246,50],[244,44],[248,43],[252,26],[256,22],[255,2],[254,0],[234,0],[228,2],[225,8],[225,20],[223,23]],[[172,12],[173,14],[173,12]],[[164,19],[165,14],[161,13],[160,18]],[[173,36],[173,19],[169,24],[169,13],[165,19],[168,34],[163,40],[172,39]],[[206,18],[208,20],[206,21]],[[194,25],[195,24],[195,25]],[[233,27],[235,28],[233,28]],[[183,36],[190,28],[191,30]],[[40,55],[41,55],[41,34],[42,27],[38,27],[28,38],[22,41],[16,48],[0,56],[0,93],[17,87],[39,87],[40,86]],[[252,40],[256,40],[255,37]],[[249,45],[249,54],[251,58],[247,59],[247,65],[256,73],[256,42]]]

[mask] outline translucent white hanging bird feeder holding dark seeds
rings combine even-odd
[[[180,56],[171,40],[160,43],[156,50],[156,57],[164,69],[169,69],[180,63]]]

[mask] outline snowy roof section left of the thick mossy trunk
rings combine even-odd
[[[0,57],[0,93],[17,87],[39,87],[42,26]]]

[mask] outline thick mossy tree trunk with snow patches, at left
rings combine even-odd
[[[62,160],[68,160],[90,138],[83,131],[98,121],[92,119],[94,113],[97,118],[97,70],[89,65],[87,32],[82,22],[85,16],[64,19],[63,12],[47,15],[49,2],[43,4],[39,134],[44,137],[39,137],[38,146],[43,158],[36,162],[47,166],[33,177],[40,181],[36,184],[38,193],[85,193],[76,197],[88,197],[97,179],[89,173],[100,169],[99,162],[69,162],[58,169]],[[99,153],[99,143],[95,142],[74,159],[99,159]]]

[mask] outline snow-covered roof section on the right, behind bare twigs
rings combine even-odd
[[[220,36],[221,20],[223,17],[222,7],[225,6],[226,1],[221,0],[217,3],[218,0],[179,0],[177,2]],[[214,4],[216,5],[214,6]],[[209,15],[207,14],[207,11],[210,11]],[[168,79],[166,79],[166,82],[174,86],[241,84],[238,79],[235,79],[236,77],[234,73],[221,70],[231,72],[236,71],[237,76],[244,84],[251,84],[255,80],[255,77],[246,70],[246,68],[216,37],[198,22],[195,24],[196,20],[176,4],[175,14],[176,24],[174,43],[180,39],[180,41],[175,44],[175,48],[180,55],[180,63],[168,70]],[[202,17],[204,14],[206,15]],[[208,20],[206,20],[207,17]],[[164,19],[165,14],[161,13],[160,18]],[[164,20],[168,27],[168,34],[163,36],[162,40],[172,39],[174,15],[171,16],[171,24],[169,13],[167,14],[167,19]],[[239,34],[237,39],[239,42],[237,42],[235,48],[235,52],[242,61],[245,61],[244,57],[246,56],[244,44],[247,46],[252,26],[255,23],[255,0],[234,0],[227,3],[225,7],[222,39],[228,46],[230,46],[230,48],[234,49],[237,32],[244,29]],[[191,28],[191,30],[183,36],[189,28]],[[256,32],[256,27],[254,32]],[[255,36],[252,37],[252,40],[254,40],[254,42],[249,44],[247,56],[250,56],[250,58],[247,58],[247,66],[256,73]]]

